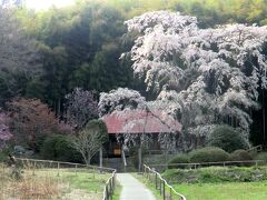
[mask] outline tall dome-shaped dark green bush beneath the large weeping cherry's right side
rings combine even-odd
[[[229,126],[218,126],[215,128],[207,143],[210,147],[221,148],[227,152],[248,148],[248,143],[243,136]]]

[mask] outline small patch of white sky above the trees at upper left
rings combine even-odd
[[[76,0],[26,0],[26,6],[31,9],[41,10],[48,9],[52,4],[60,8],[73,4]]]

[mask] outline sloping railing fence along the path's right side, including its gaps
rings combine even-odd
[[[162,196],[164,200],[186,200],[186,197],[181,193],[178,193],[171,186],[167,183],[167,181],[161,177],[160,173],[150,169],[148,166],[144,164],[144,176],[149,180],[155,182],[155,188],[160,191],[160,196]]]

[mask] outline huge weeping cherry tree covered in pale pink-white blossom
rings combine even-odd
[[[169,11],[126,24],[138,36],[121,59],[131,58],[135,74],[157,96],[154,104],[178,119],[184,133],[208,137],[215,124],[229,123],[248,139],[257,89],[267,87],[266,26],[200,29],[195,17]]]

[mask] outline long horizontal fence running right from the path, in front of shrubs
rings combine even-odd
[[[162,171],[168,168],[187,168],[197,169],[201,167],[235,167],[235,166],[259,166],[264,163],[264,160],[247,160],[247,161],[222,161],[222,162],[191,162],[191,163],[169,163],[169,164],[149,164],[150,167],[157,169],[157,171]]]

